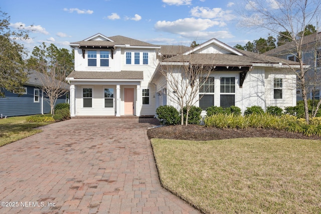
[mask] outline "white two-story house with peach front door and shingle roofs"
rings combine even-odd
[[[75,51],[75,71],[66,78],[71,116],[155,115],[160,105],[176,106],[159,70],[162,64],[215,65],[208,83],[213,90],[195,103],[203,110],[235,105],[243,112],[253,105],[265,109],[296,104],[295,75],[287,68],[298,67],[297,62],[239,51],[216,39],[191,49],[96,34],[70,46]],[[190,61],[180,61],[182,55]]]

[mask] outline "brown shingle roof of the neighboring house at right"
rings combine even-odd
[[[312,45],[315,43],[315,41],[320,41],[321,40],[321,32],[311,34],[308,36],[304,36],[302,40],[302,45],[309,47],[309,45]],[[291,41],[288,43],[285,43],[284,45],[278,46],[270,51],[267,51],[263,53],[264,55],[270,55],[270,56],[275,56],[275,55],[280,55],[280,54],[290,54],[293,53],[293,50],[295,49],[295,41]],[[296,51],[295,51],[296,52]]]

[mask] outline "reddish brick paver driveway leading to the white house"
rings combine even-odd
[[[198,213],[161,187],[152,118],[74,118],[0,147],[1,213]]]

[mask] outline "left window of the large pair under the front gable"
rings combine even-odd
[[[202,110],[214,106],[214,77],[209,77],[208,79],[200,78],[199,93],[199,105]]]

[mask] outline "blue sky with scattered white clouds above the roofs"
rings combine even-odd
[[[0,0],[11,28],[32,30],[24,41],[31,52],[43,42],[70,49],[69,43],[97,33],[154,45],[198,44],[212,38],[233,47],[268,34],[243,28],[242,0]]]

